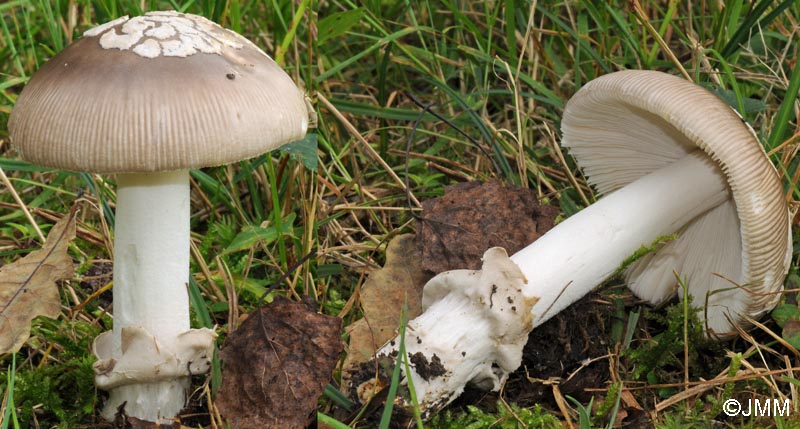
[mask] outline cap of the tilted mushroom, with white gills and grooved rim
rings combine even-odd
[[[675,270],[694,305],[704,307],[701,319],[721,335],[775,305],[791,258],[789,210],[757,136],[724,101],[665,73],[622,71],[581,88],[562,128],[563,145],[603,194],[698,148],[728,180],[732,199],[628,269],[637,295],[651,302],[674,296]]]

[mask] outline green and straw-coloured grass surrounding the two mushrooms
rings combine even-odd
[[[0,185],[0,264],[39,246],[36,227],[46,233],[74,201],[83,205],[71,249],[79,274],[62,289],[64,316],[38,320],[31,340],[16,356],[0,357],[0,367],[6,368],[0,377],[0,392],[6,395],[3,427],[86,427],[96,421],[92,386],[76,385],[70,374],[85,370],[87,342],[110,327],[105,310],[113,178],[31,166],[9,146],[5,126],[16,96],[38,66],[85,29],[143,10],[175,8],[204,15],[265,48],[316,101],[316,172],[282,153],[192,172],[194,324],[217,324],[224,334],[230,318],[260,305],[260,297],[282,274],[287,278],[267,300],[276,294],[307,294],[321,311],[341,317],[345,326],[359,319],[358,291],[366,272],[383,262],[391,237],[413,232],[418,202],[441,195],[445,185],[499,178],[534,189],[565,216],[591,203],[592,190],[569,154],[558,149],[560,117],[575,91],[614,70],[684,75],[725,98],[755,129],[797,209],[800,5],[790,0],[721,4],[1,4],[0,168],[14,192]],[[795,226],[793,277],[787,288],[800,286],[797,230]],[[316,258],[293,269],[314,251]],[[233,294],[238,295],[235,308],[229,305]],[[790,303],[794,295],[787,294]],[[618,382],[619,395],[626,393],[623,405],[619,395],[609,394],[613,385],[601,385],[595,386],[591,405],[584,401],[578,406],[556,393],[539,405],[506,404],[501,397],[500,402],[447,410],[430,427],[553,427],[557,423],[551,418],[574,427],[605,427],[613,425],[612,413],[619,416],[624,409],[630,415],[628,394],[658,427],[792,427],[791,421],[726,419],[720,412],[724,399],[741,392],[789,398],[793,411],[800,412],[795,376],[800,354],[770,318],[717,346],[721,349],[711,349],[716,355],[709,358],[704,356],[709,349],[692,335],[685,308],[639,309],[629,295],[621,299],[621,317],[643,313],[634,336],[624,341],[630,350],[609,350],[608,379]],[[26,390],[26,383],[52,387],[37,392]],[[333,398],[321,399],[320,421],[345,427],[350,422],[327,417],[335,411]]]

